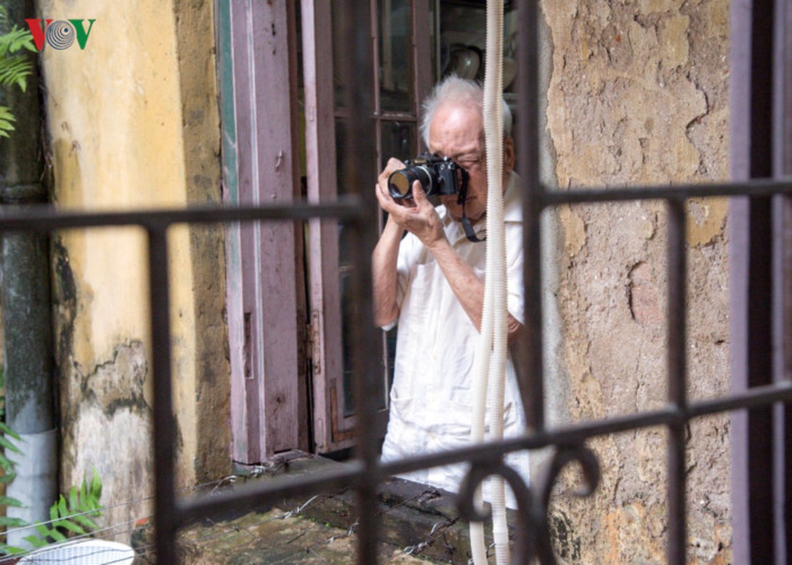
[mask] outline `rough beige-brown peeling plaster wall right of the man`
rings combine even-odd
[[[542,3],[550,28],[547,130],[560,189],[725,180],[729,4],[725,0]],[[689,393],[729,387],[726,204],[688,203]],[[558,310],[565,391],[558,419],[659,408],[666,399],[663,203],[565,206]],[[552,524],[565,563],[665,563],[662,429],[597,438],[588,499],[558,487]],[[691,423],[688,562],[729,563],[729,419]]]

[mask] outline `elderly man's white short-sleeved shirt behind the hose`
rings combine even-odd
[[[465,237],[459,222],[438,207],[445,233],[459,256],[484,279],[486,244]],[[524,323],[523,224],[520,177],[512,173],[504,194],[508,312]],[[486,222],[474,229],[479,237]],[[412,233],[398,253],[398,336],[390,419],[383,461],[470,445],[474,357],[478,331],[467,317],[434,256]],[[524,412],[512,359],[506,368],[504,435],[521,434]],[[527,482],[527,453],[512,453],[506,463]],[[456,492],[467,465],[421,469],[402,478]],[[514,506],[511,496],[509,506]]]

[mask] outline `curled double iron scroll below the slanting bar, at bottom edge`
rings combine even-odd
[[[499,461],[475,461],[459,487],[457,506],[459,514],[468,521],[485,521],[489,512],[482,512],[474,505],[474,493],[488,476],[499,475],[512,487],[517,501],[517,523],[512,563],[524,565],[537,558],[540,563],[556,563],[550,541],[548,511],[550,495],[555,481],[568,463],[577,461],[581,465],[584,486],[574,495],[591,495],[600,483],[600,463],[591,449],[583,444],[558,446],[553,457],[539,472],[539,478],[529,487],[513,468]]]

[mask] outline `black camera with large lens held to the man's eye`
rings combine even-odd
[[[406,168],[390,173],[388,191],[394,200],[413,197],[413,183],[421,181],[427,196],[455,195],[467,184],[467,171],[449,157],[421,154],[405,162]]]

